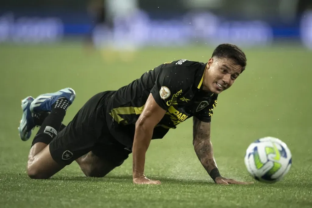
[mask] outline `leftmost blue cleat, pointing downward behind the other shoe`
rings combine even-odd
[[[33,113],[30,111],[30,105],[33,100],[34,98],[31,96],[22,100],[23,115],[18,131],[23,141],[27,141],[30,138],[32,129],[35,127]]]

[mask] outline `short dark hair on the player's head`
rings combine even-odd
[[[211,57],[232,59],[236,65],[240,65],[242,67],[241,72],[243,72],[246,68],[247,59],[245,53],[233,44],[220,44],[215,48]]]

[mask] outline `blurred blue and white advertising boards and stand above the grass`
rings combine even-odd
[[[1,1],[0,42],[95,43],[135,50],[232,42],[312,49],[311,0]]]

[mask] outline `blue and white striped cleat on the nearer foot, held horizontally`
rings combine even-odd
[[[30,104],[30,111],[33,113],[40,113],[42,111],[51,112],[52,105],[57,99],[66,98],[72,104],[75,97],[76,93],[71,88],[61,89],[55,93],[41,94]]]

